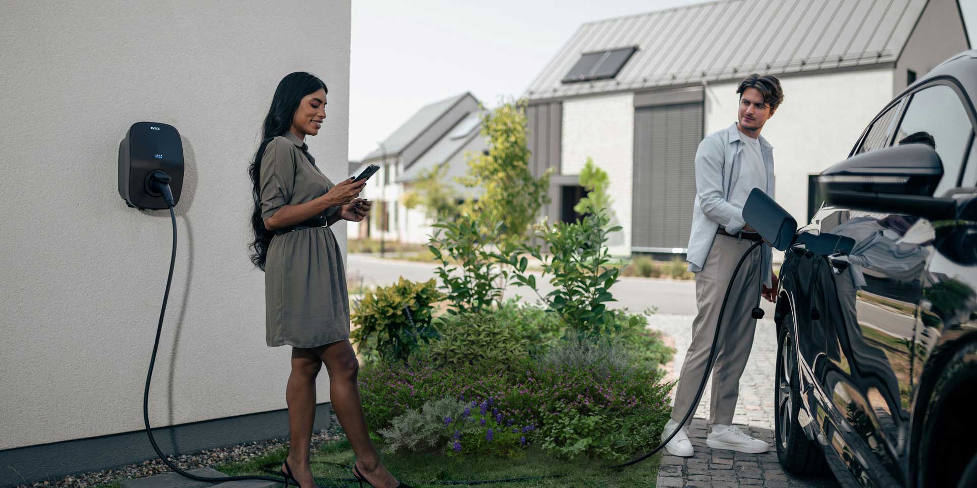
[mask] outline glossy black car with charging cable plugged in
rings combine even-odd
[[[781,267],[775,442],[843,486],[977,486],[977,50],[889,102]]]

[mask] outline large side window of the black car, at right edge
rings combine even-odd
[[[943,180],[934,195],[956,187],[973,127],[954,89],[935,85],[913,94],[896,133],[896,143],[933,145],[943,162]]]

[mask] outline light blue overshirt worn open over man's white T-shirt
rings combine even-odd
[[[763,136],[759,140],[763,163],[767,168],[766,192],[773,198],[774,147]],[[699,143],[699,150],[696,151],[696,202],[692,211],[692,233],[689,235],[689,251],[686,255],[690,271],[702,270],[720,225],[727,232],[735,234],[746,224],[743,222],[742,205],[730,203],[732,189],[740,180],[740,153],[744,145],[740,139],[740,129],[735,123],[709,134]],[[770,276],[773,272],[772,250],[768,244],[761,245],[760,250],[763,284],[770,287]]]

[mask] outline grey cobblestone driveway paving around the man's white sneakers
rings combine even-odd
[[[685,352],[692,342],[692,316],[655,315],[650,327],[664,332],[675,342],[672,363],[674,379],[685,360]],[[777,335],[773,320],[759,320],[753,339],[753,351],[746,362],[740,381],[733,423],[744,432],[774,443],[774,369],[777,364]],[[711,381],[711,380],[710,380]],[[689,427],[689,436],[696,456],[679,458],[667,453],[661,458],[658,487],[835,487],[837,481],[828,473],[823,477],[801,478],[787,474],[777,461],[777,451],[771,447],[764,454],[742,454],[726,450],[711,450],[705,445],[706,423],[709,416],[709,386],[705,387],[699,410]]]

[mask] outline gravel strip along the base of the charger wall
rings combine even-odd
[[[319,448],[319,445],[324,442],[330,442],[344,437],[343,430],[339,427],[339,421],[336,420],[335,414],[332,414],[332,420],[329,426],[328,429],[313,432],[312,451],[315,452]],[[230,447],[206,449],[191,454],[181,454],[176,457],[168,456],[168,458],[171,463],[181,469],[211,468],[214,465],[222,463],[236,463],[264,456],[282,447],[288,447],[288,439],[275,438],[261,442],[237,444]],[[65,476],[61,479],[22,484],[17,488],[87,488],[103,483],[111,483],[130,478],[142,478],[170,471],[171,469],[161,459],[153,458],[152,460],[135,465],[106,469],[105,471],[86,472],[84,474]]]

